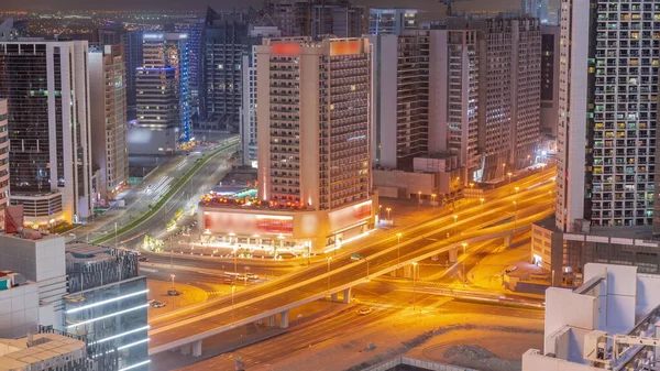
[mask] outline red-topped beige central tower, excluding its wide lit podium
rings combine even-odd
[[[258,197],[337,209],[369,200],[366,39],[257,46]]]

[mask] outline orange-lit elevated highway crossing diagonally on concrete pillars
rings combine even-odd
[[[455,243],[475,238],[487,239],[496,233],[528,226],[552,212],[554,184],[550,181],[551,176],[550,172],[546,172],[517,182],[515,186],[520,190],[514,194],[509,194],[507,187],[496,189],[487,196],[488,203],[458,211],[457,218],[443,216],[404,229],[403,232],[408,238],[402,240],[398,248],[393,248],[397,245],[395,234],[383,236],[369,244],[367,241],[360,241],[361,244],[364,243],[360,254],[365,260],[353,262],[346,255],[340,255],[329,263],[314,264],[274,282],[239,292],[233,297],[234,305],[231,304],[231,297],[221,297],[163,316],[152,323],[150,352],[164,351],[172,343],[197,339],[196,336],[199,335],[206,336],[207,331],[231,325],[232,317],[235,321],[253,318],[289,303],[329,294],[338,290],[336,287],[362,282],[367,277],[367,269],[371,274],[385,272],[399,266],[399,262],[404,264]],[[498,221],[488,225],[488,220]],[[447,238],[447,233],[450,233],[450,238]]]

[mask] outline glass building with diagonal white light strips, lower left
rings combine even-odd
[[[119,351],[117,370],[148,370],[148,290],[138,265],[131,251],[84,243],[66,248],[63,330],[111,345]]]

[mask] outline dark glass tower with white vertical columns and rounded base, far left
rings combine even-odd
[[[75,222],[91,209],[86,41],[0,42],[11,204],[32,225]]]

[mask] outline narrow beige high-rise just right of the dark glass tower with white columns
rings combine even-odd
[[[123,45],[90,45],[91,155],[100,170],[96,197],[112,198],[129,179]]]

